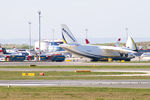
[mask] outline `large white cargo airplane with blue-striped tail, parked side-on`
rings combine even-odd
[[[98,61],[102,58],[112,58],[115,60],[126,60],[129,55],[136,53],[137,48],[129,49],[125,47],[114,46],[96,46],[90,44],[79,44],[76,38],[66,25],[62,26],[62,38],[64,44],[61,45],[66,51],[73,54],[91,58],[93,61]]]

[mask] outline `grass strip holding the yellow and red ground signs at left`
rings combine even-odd
[[[35,76],[22,76],[22,73],[35,73]],[[96,75],[121,75],[121,74],[145,74],[142,72],[44,72],[45,76],[40,76],[40,72],[21,71],[0,71],[0,80],[98,80],[98,79],[150,79],[150,77],[139,76],[96,76]],[[88,76],[86,76],[88,75]],[[89,76],[91,75],[91,76]]]

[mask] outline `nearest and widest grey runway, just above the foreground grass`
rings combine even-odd
[[[0,80],[0,86],[150,88],[150,80]]]

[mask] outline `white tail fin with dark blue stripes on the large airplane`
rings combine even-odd
[[[75,39],[75,37],[73,36],[73,34],[71,33],[71,31],[69,30],[69,28],[67,27],[67,25],[62,24],[61,27],[62,27],[63,42],[65,44],[77,43],[77,40]]]

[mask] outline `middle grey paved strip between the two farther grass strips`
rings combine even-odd
[[[96,69],[96,68],[0,68],[0,71],[69,71],[90,70],[92,72],[150,72],[150,68],[125,68],[125,69]]]

